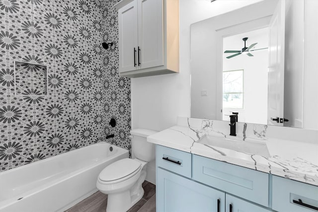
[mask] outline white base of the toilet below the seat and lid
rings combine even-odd
[[[115,194],[108,194],[106,212],[127,212],[144,196],[143,182],[146,171],[142,170],[140,177],[130,190]]]

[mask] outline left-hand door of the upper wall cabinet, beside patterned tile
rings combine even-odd
[[[118,10],[119,72],[138,67],[138,9],[137,0]]]

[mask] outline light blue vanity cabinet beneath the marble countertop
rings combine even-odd
[[[315,212],[318,186],[156,146],[157,212]]]

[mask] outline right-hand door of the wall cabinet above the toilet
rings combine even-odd
[[[163,0],[138,0],[140,69],[163,66]]]

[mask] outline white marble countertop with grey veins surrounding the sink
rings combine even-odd
[[[266,128],[264,131],[264,129],[257,130],[254,127],[253,132],[246,136],[245,124],[244,134],[238,134],[234,138],[238,141],[250,139],[265,142],[269,155],[261,156],[198,143],[204,135],[224,138],[230,136],[210,125],[206,127],[205,124],[202,127],[201,123],[200,127],[194,126],[187,121],[187,126],[173,126],[148,137],[147,140],[155,144],[318,186],[318,143],[267,138],[264,135]]]

